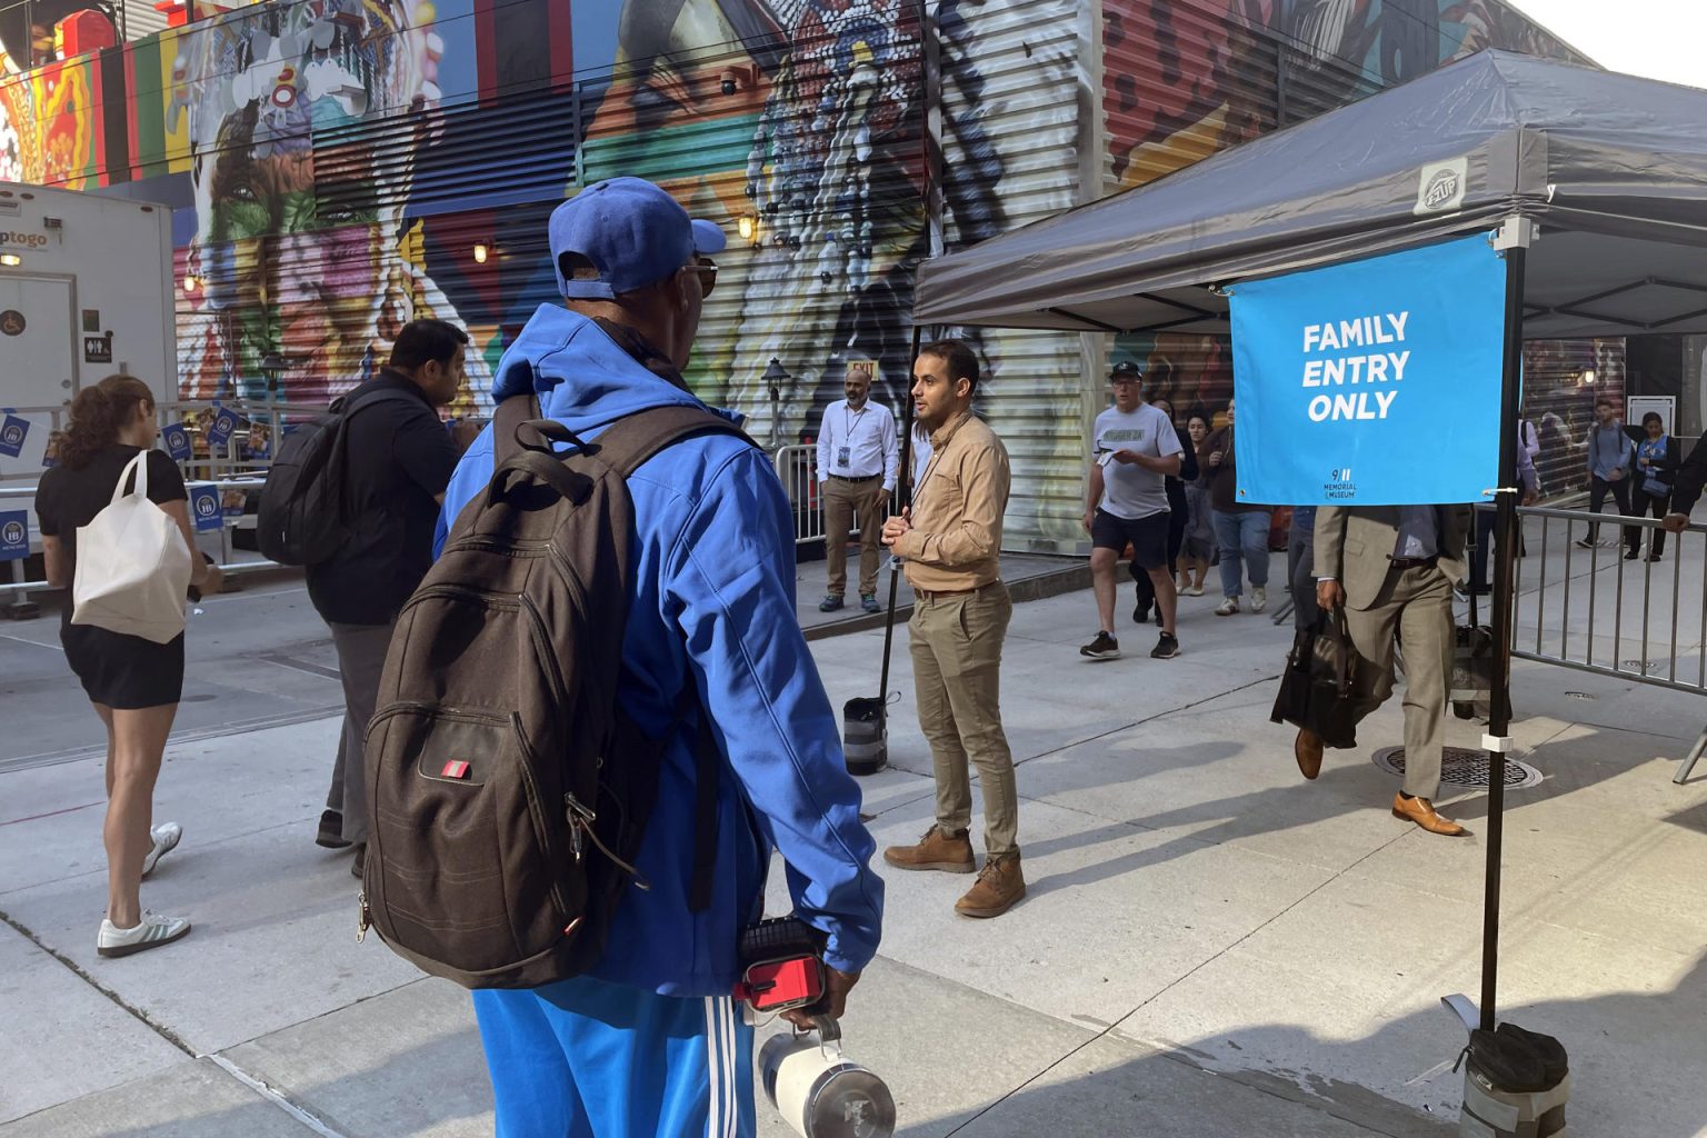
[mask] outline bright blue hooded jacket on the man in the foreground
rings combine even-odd
[[[504,353],[492,399],[529,387],[546,416],[589,438],[632,411],[698,404],[556,305],[541,305]],[[449,522],[492,481],[492,456],[488,427],[451,478],[435,556]],[[625,891],[591,976],[673,996],[729,995],[736,938],[760,916],[772,846],[789,865],[795,914],[830,937],[828,964],[857,973],[877,952],[883,880],[867,865],[860,792],[794,613],[789,498],[768,457],[731,435],[669,447],[628,490],[635,549],[618,700],[659,735],[683,686],[695,684],[725,763],[710,908],[688,911],[696,732],[679,725],[637,865],[652,887]]]

